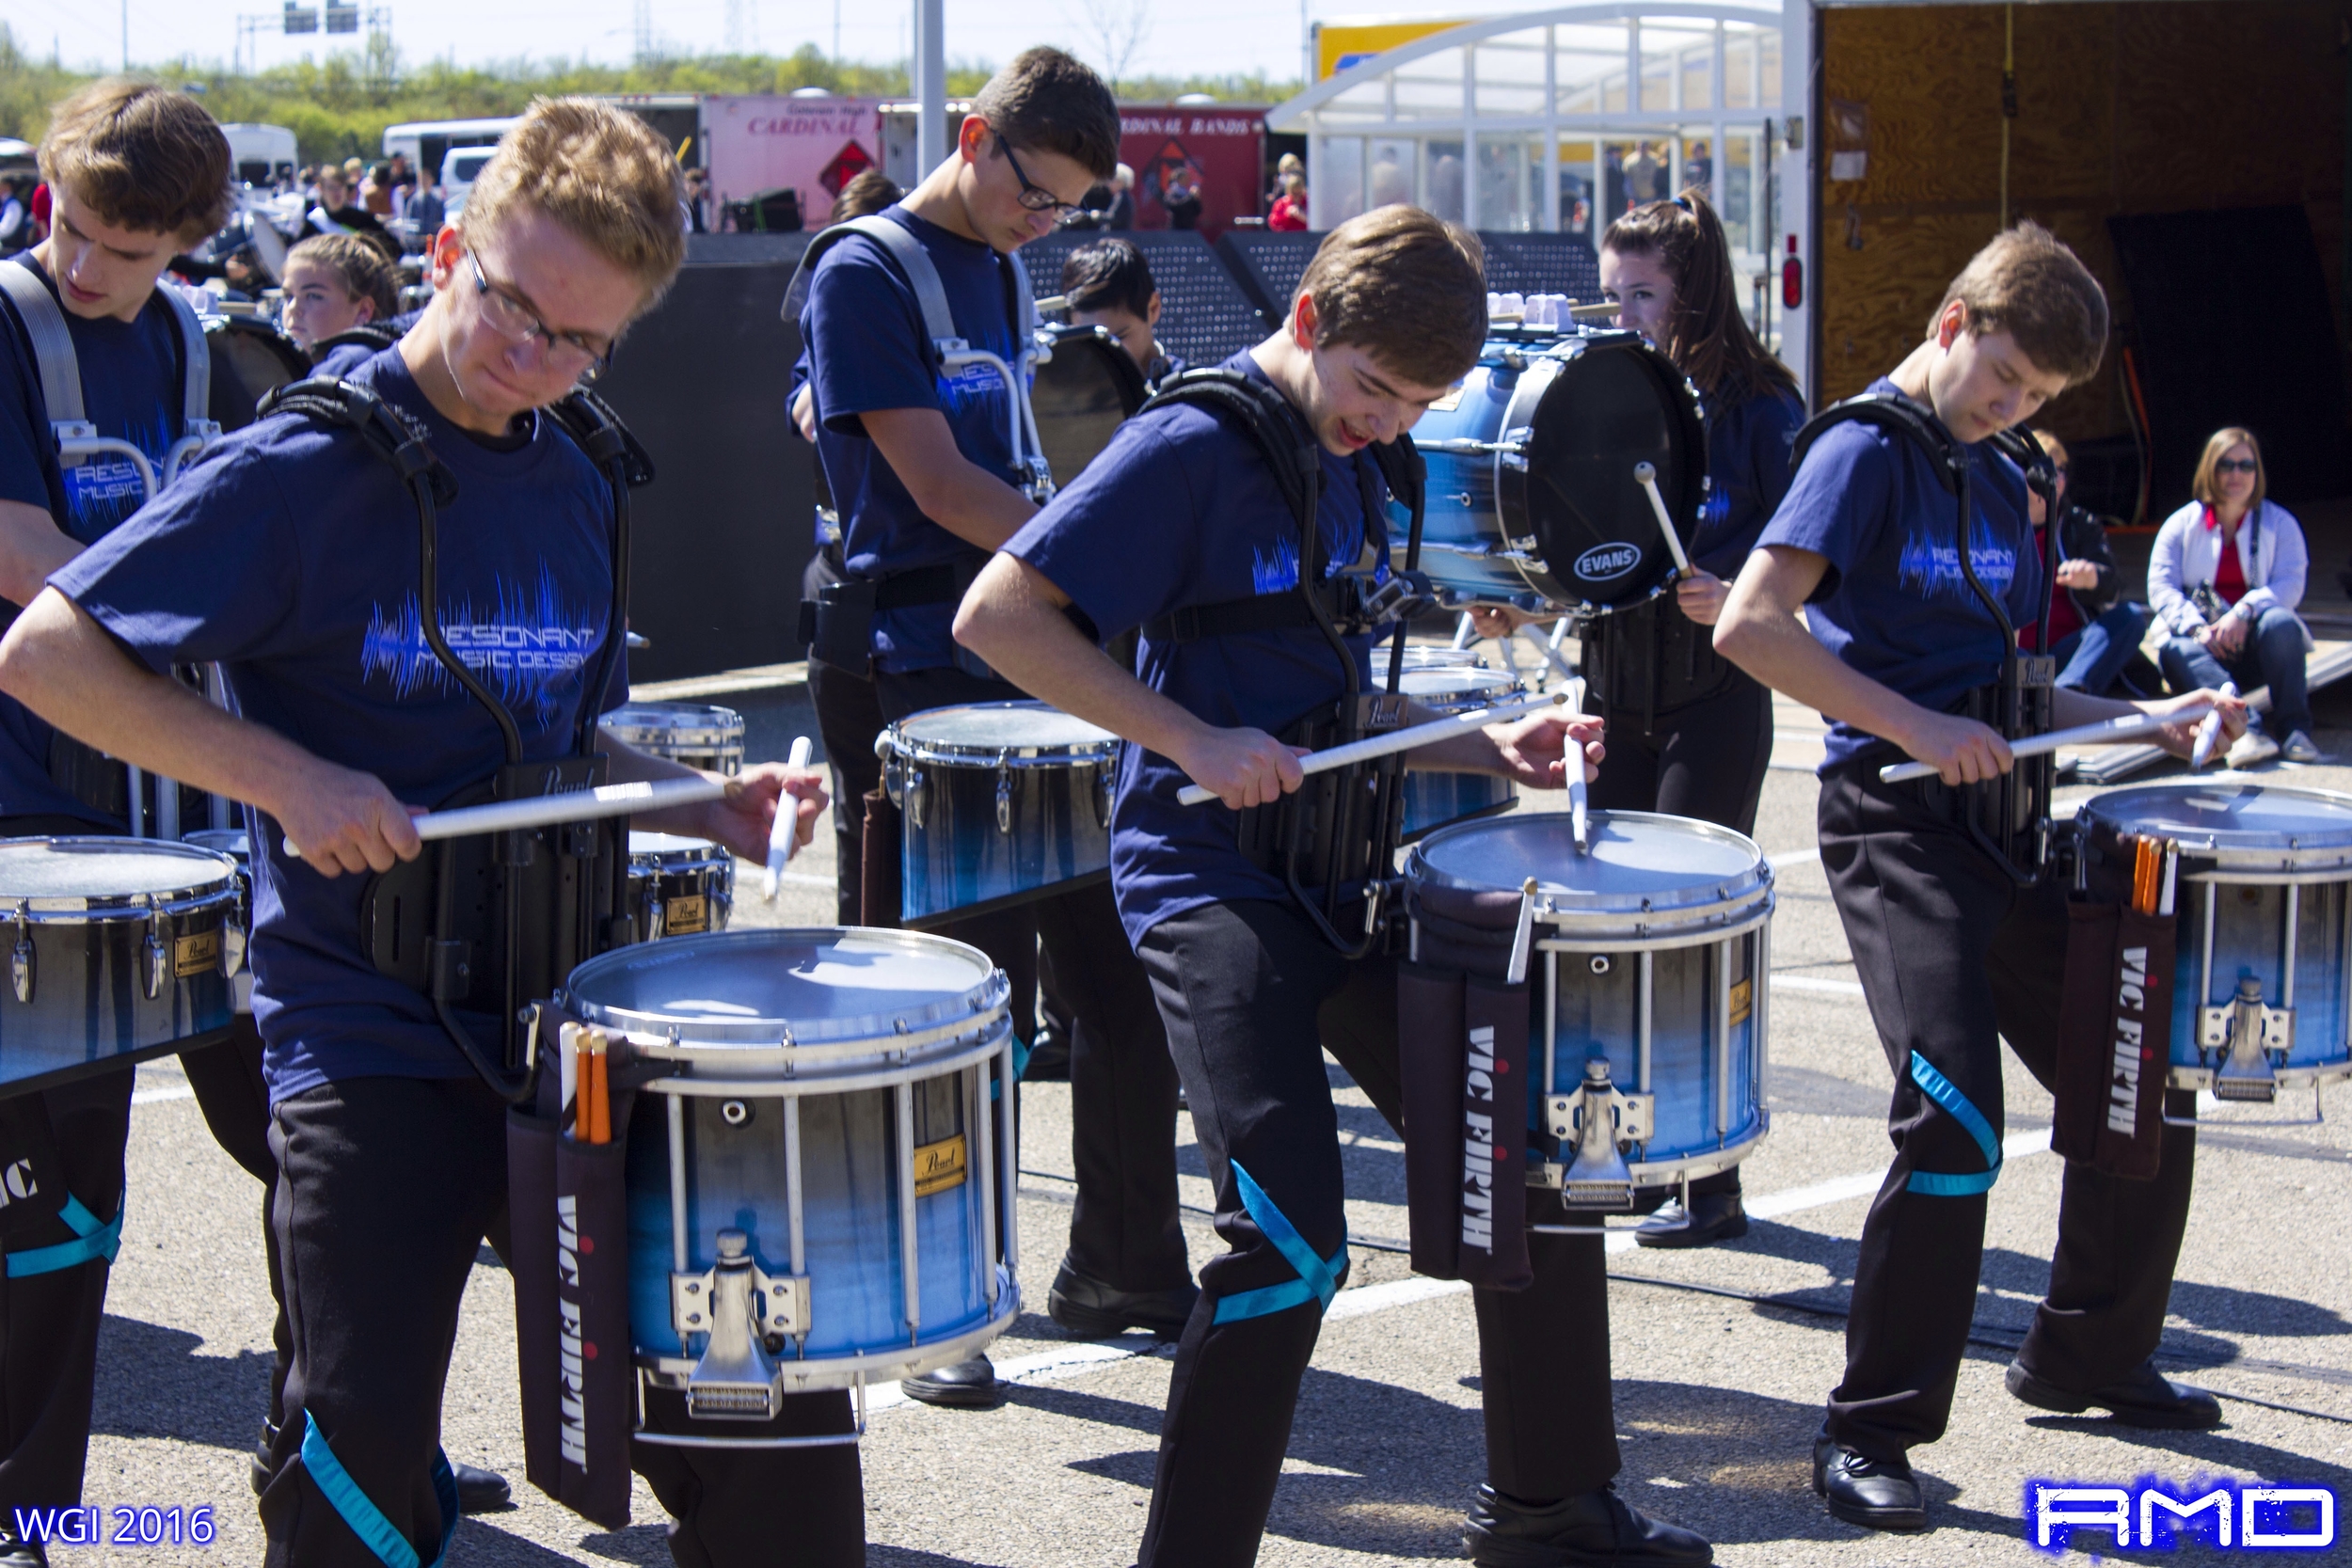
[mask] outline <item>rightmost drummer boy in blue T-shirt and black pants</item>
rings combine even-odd
[[[1893,1164],[1863,1220],[1846,1375],[1813,1441],[1813,1490],[1837,1519],[1879,1530],[1929,1521],[1910,1450],[1943,1436],[1966,1352],[2002,1173],[2002,1039],[2042,1084],[2058,1060],[2065,886],[2030,844],[2002,851],[1971,788],[2016,757],[1969,708],[1992,710],[2013,628],[2049,604],[2025,477],[1987,442],[2089,381],[2105,339],[2107,296],[2074,252],[2037,223],[1997,235],[1952,280],[1926,341],[1870,386],[1879,402],[1823,416],[1715,625],[1717,651],[1830,719],[1820,865],[1896,1088]],[[1969,475],[1966,552],[1945,458],[1926,442]],[[2244,731],[2244,703],[2206,691],[2126,705],[2058,686],[2051,710],[2065,729],[2206,703]],[[2169,724],[2161,743],[2187,755],[2194,722]],[[1879,778],[1905,757],[1938,778]],[[2192,1095],[2166,1095],[2169,1117],[2192,1112]],[[2154,1180],[2067,1164],[2051,1288],[2009,1366],[2020,1401],[2103,1408],[2133,1427],[2220,1422],[2211,1394],[2169,1382],[2152,1359],[2194,1157],[2187,1121],[2164,1126]]]

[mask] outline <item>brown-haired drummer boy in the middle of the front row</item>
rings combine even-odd
[[[1359,559],[1385,559],[1388,491],[1367,449],[1406,433],[1477,362],[1484,334],[1477,240],[1414,207],[1381,207],[1331,230],[1282,329],[1225,362],[1279,393],[1284,421],[1312,433],[1317,555],[1331,571],[1308,590]],[[1279,451],[1301,447],[1284,437]],[[988,564],[957,616],[964,646],[1131,743],[1110,879],[1167,1020],[1216,1185],[1216,1229],[1230,1244],[1202,1267],[1176,1352],[1145,1568],[1256,1559],[1348,1241],[1324,1048],[1402,1124],[1395,966],[1343,957],[1317,926],[1359,929],[1362,900],[1336,917],[1296,903],[1237,842],[1240,809],[1301,788],[1298,759],[1275,733],[1348,689],[1327,630],[1279,614],[1305,614],[1298,578],[1301,517],[1268,449],[1183,402],[1129,418]],[[1073,609],[1112,637],[1141,625],[1136,672],[1082,637]],[[1345,639],[1364,691],[1371,639],[1371,630]],[[1597,731],[1555,712],[1416,757],[1562,788]],[[1188,780],[1221,804],[1178,804]],[[1489,1486],[1465,1528],[1475,1561],[1708,1563],[1703,1540],[1611,1490],[1599,1234],[1531,1234],[1529,1253],[1529,1288],[1475,1291],[1489,1434]]]

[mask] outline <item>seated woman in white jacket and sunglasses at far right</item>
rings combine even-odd
[[[2293,515],[2263,498],[2263,449],[2251,430],[2216,430],[2197,461],[2197,501],[2164,520],[2147,562],[2147,602],[2164,625],[2164,679],[2176,691],[2270,686],[2270,733],[2288,762],[2319,762],[2303,656],[2312,635],[2296,616],[2310,552]],[[2256,724],[2230,748],[2230,766],[2281,752]]]

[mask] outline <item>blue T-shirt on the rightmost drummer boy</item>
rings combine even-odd
[[[1872,393],[1898,395],[1884,376]],[[2025,475],[1985,444],[1969,447],[1969,562],[2011,628],[2039,614],[2042,562],[2025,512]],[[1846,665],[1936,712],[2002,677],[2006,649],[1959,569],[1959,505],[1905,435],[1849,421],[1804,454],[1759,545],[1795,545],[1830,569],[1806,604],[1813,637]],[[1830,769],[1877,736],[1832,722]]]

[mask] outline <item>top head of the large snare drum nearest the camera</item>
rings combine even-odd
[[[564,994],[588,1023],[774,1048],[786,1032],[887,1041],[978,1018],[993,969],[978,947],[917,931],[727,931],[616,947],[574,969]]]

